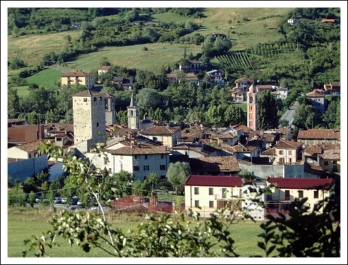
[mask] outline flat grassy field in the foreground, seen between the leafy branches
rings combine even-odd
[[[22,251],[27,249],[23,240],[31,238],[31,235],[42,234],[42,231],[51,229],[47,223],[52,212],[39,209],[9,209],[8,210],[8,257],[21,257]],[[109,216],[113,227],[118,227],[126,232],[128,229],[135,230],[140,222],[143,222],[143,216],[135,214],[121,214]],[[257,234],[262,232],[259,222],[244,221],[233,224],[231,233],[235,240],[235,252],[241,257],[250,257],[251,255],[262,255],[262,250],[257,246],[260,238]],[[92,249],[90,253],[84,253],[78,246],[69,244],[58,239],[60,247],[54,246],[47,253],[51,257],[109,257],[99,249]],[[29,255],[32,257],[33,255]]]

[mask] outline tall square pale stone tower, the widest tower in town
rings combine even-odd
[[[105,111],[104,93],[87,89],[73,95],[74,144],[105,141]]]

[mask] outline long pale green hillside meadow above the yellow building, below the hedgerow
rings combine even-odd
[[[143,51],[147,47],[148,51]],[[100,58],[106,57],[113,65],[137,68],[159,72],[163,65],[171,65],[179,60],[187,47],[187,54],[197,54],[200,47],[197,45],[182,45],[170,43],[148,43],[124,47],[105,47],[91,54],[79,56],[76,61],[67,62],[71,69],[91,71],[100,67]]]

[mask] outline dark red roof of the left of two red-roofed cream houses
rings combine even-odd
[[[243,181],[239,176],[203,176],[189,175],[187,186],[212,186],[212,187],[242,187]]]

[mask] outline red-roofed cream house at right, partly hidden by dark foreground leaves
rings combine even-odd
[[[267,211],[283,214],[289,213],[290,203],[295,198],[308,198],[305,205],[312,211],[314,205],[332,194],[330,188],[334,185],[332,178],[268,178],[267,182],[276,185],[266,200]],[[320,211],[323,212],[323,207]]]

